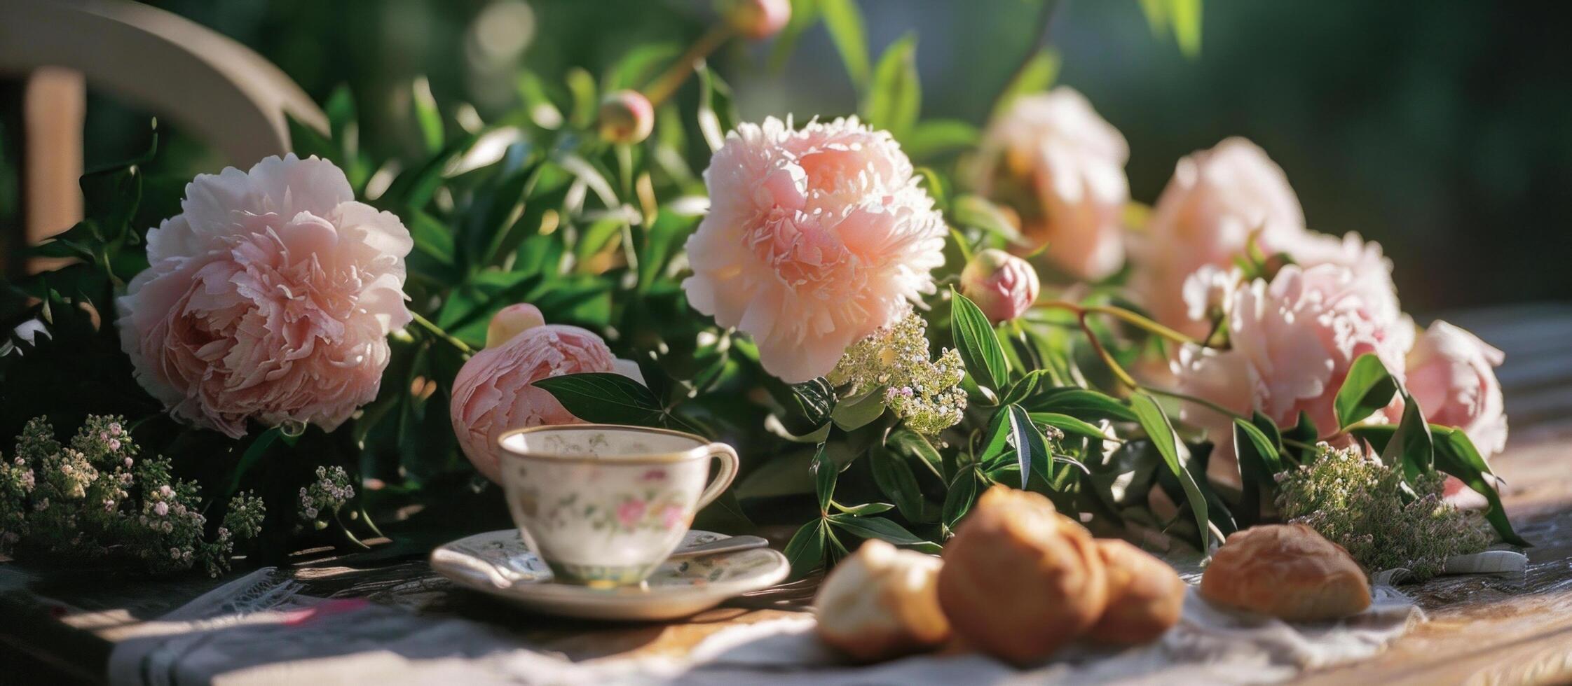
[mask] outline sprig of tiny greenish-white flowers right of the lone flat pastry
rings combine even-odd
[[[1482,551],[1489,526],[1442,498],[1445,474],[1426,473],[1405,502],[1402,471],[1358,447],[1316,444],[1316,458],[1276,476],[1283,516],[1347,548],[1366,571],[1407,568],[1415,581],[1442,573],[1446,557]]]

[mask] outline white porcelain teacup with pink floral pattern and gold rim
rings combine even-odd
[[[737,452],[692,433],[567,424],[503,433],[501,483],[523,543],[560,581],[638,584],[737,476]],[[715,480],[704,485],[711,458]]]

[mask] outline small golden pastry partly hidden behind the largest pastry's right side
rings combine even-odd
[[[1097,538],[1108,584],[1108,606],[1086,637],[1104,644],[1144,644],[1179,623],[1185,582],[1166,562],[1118,538]]]

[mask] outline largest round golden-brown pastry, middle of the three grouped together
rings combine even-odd
[[[1016,664],[1047,658],[1102,615],[1102,556],[1047,498],[994,487],[945,545],[938,604],[957,636]]]

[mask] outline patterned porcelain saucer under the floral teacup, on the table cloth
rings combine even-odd
[[[679,549],[728,538],[689,531]],[[431,551],[431,568],[454,584],[539,612],[586,618],[668,620],[714,608],[726,598],[767,589],[791,573],[786,556],[753,548],[667,560],[640,586],[591,589],[560,584],[517,529],[475,534]]]

